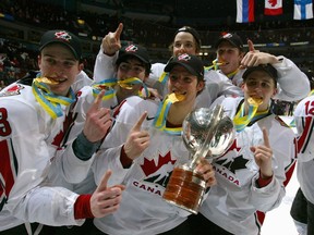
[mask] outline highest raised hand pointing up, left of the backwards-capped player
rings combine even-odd
[[[102,50],[107,55],[113,55],[118,50],[121,49],[121,33],[123,30],[123,24],[120,23],[118,25],[118,28],[116,32],[109,32],[104,38],[102,38]]]

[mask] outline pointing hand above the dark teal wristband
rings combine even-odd
[[[112,124],[110,110],[101,107],[104,95],[101,90],[86,113],[83,134],[90,143],[101,140]]]

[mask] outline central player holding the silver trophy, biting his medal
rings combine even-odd
[[[114,175],[109,185],[124,183],[126,187],[119,211],[94,220],[102,233],[193,234],[184,223],[190,213],[167,203],[161,196],[174,165],[189,160],[181,137],[182,122],[195,108],[196,96],[204,88],[204,67],[197,57],[181,54],[165,71],[170,72],[169,96],[159,103],[128,98],[102,145],[105,149],[93,164],[97,184],[102,172],[110,168]],[[207,187],[215,184],[207,160],[202,160],[197,170]]]

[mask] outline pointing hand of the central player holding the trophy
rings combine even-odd
[[[134,160],[149,146],[149,134],[147,131],[142,131],[142,124],[147,116],[144,112],[137,123],[132,127],[129,133],[128,139],[124,144],[124,152],[128,158]]]

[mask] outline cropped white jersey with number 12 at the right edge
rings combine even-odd
[[[304,196],[314,203],[314,96],[301,100],[293,115],[298,131],[297,177]]]

